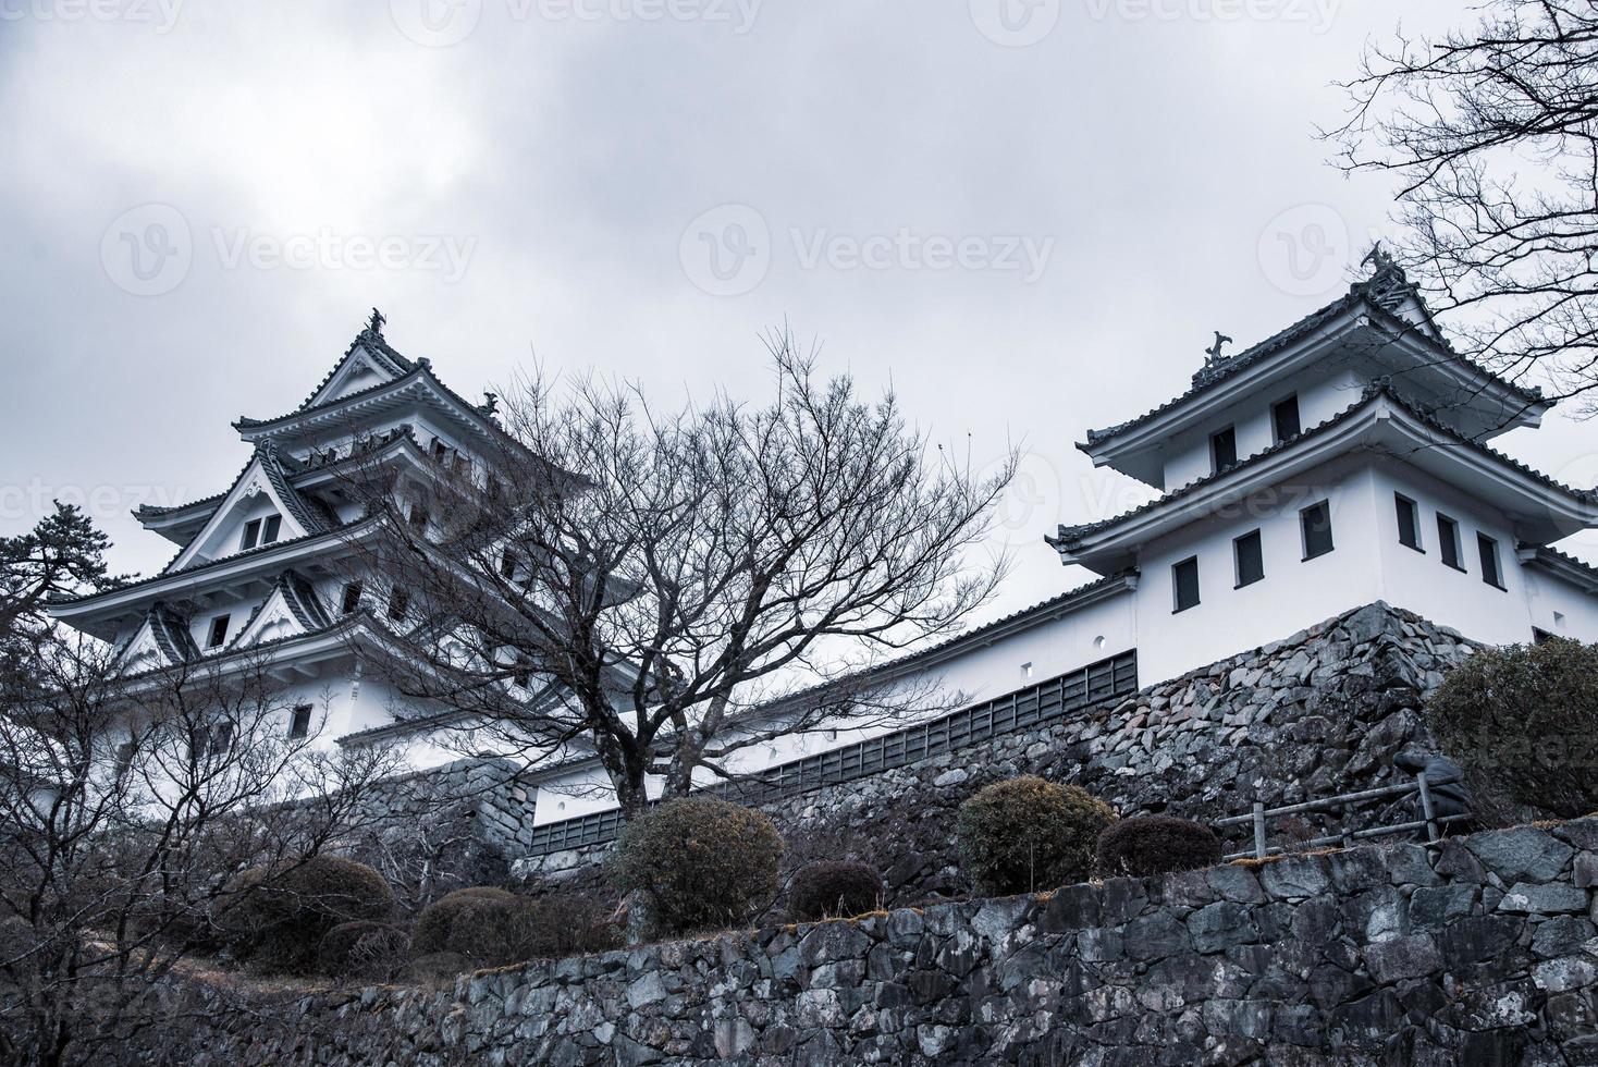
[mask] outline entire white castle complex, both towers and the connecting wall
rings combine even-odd
[[[1175,399],[1087,431],[1077,447],[1095,465],[1162,492],[1048,532],[1095,581],[916,652],[884,680],[933,674],[981,709],[1047,679],[1063,714],[1377,601],[1486,644],[1598,641],[1598,570],[1555,546],[1598,526],[1598,495],[1493,447],[1550,404],[1456,355],[1403,273],[1374,259],[1369,278],[1277,335],[1230,356],[1218,343]],[[363,677],[363,649],[406,612],[384,575],[348,573],[368,519],[340,471],[377,462],[403,486],[428,465],[479,463],[503,434],[492,401],[403,356],[374,315],[299,407],[233,425],[251,454],[232,486],[137,513],[179,546],[173,561],[56,617],[113,642],[129,671],[265,656],[326,709],[329,743],[403,743],[419,765],[444,762],[380,677]],[[307,728],[297,719],[284,730]],[[882,760],[906,732],[789,738],[746,751],[743,770],[801,773],[863,744]],[[527,779],[545,851],[614,824],[580,754]]]

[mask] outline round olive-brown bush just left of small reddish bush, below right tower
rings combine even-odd
[[[965,872],[994,894],[1085,880],[1098,835],[1115,811],[1077,786],[1034,775],[978,789],[956,819]]]

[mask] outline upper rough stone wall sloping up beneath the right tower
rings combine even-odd
[[[960,896],[970,887],[951,851],[954,813],[989,781],[1037,773],[1077,783],[1122,815],[1200,821],[1246,813],[1256,799],[1274,807],[1390,784],[1397,752],[1430,748],[1424,693],[1472,647],[1377,602],[1114,706],[765,810],[788,840],[789,864],[871,863],[895,904]],[[1341,827],[1328,816],[1302,831]],[[594,885],[602,853],[529,858],[516,871]]]

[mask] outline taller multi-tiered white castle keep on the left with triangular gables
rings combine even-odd
[[[352,473],[380,470],[404,497],[446,468],[476,468],[503,430],[384,340],[376,310],[323,382],[294,411],[233,423],[252,455],[227,490],[134,514],[179,545],[160,573],[120,589],[58,602],[51,612],[113,642],[129,676],[177,663],[254,669],[267,663],[292,706],[291,736],[336,740],[401,728],[363,650],[384,628],[409,625],[406,597],[358,569],[376,534]],[[415,513],[414,521],[427,521]],[[313,722],[315,719],[315,722]],[[324,722],[323,722],[324,719]]]

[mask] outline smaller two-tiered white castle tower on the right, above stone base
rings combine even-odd
[[[1143,682],[1385,601],[1488,644],[1598,639],[1598,572],[1552,548],[1598,498],[1494,450],[1548,411],[1461,358],[1403,272],[1374,273],[1080,444],[1165,495],[1059,527],[1067,564],[1136,570]]]

